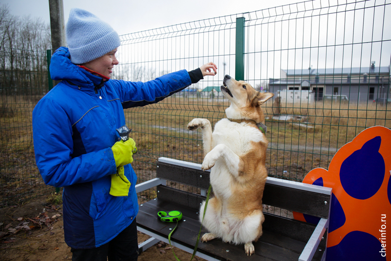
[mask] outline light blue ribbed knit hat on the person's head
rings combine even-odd
[[[65,32],[74,64],[92,61],[121,45],[117,32],[109,24],[79,8],[70,10]]]

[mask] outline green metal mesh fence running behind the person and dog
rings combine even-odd
[[[365,128],[390,128],[390,4],[314,0],[120,36],[116,79],[148,81],[210,61],[218,67],[216,76],[183,92],[126,110],[139,182],[155,177],[161,156],[202,162],[201,132],[186,126],[194,118],[214,125],[225,117],[229,102],[219,91],[225,74],[275,95],[263,105],[269,176],[301,181],[312,168],[327,168],[335,152]],[[6,75],[9,68],[2,70]],[[27,87],[38,98],[46,87],[40,88],[32,82]],[[34,184],[42,179],[33,158],[31,112],[38,98],[22,92],[1,97],[1,191],[16,195],[22,189],[11,184],[19,180],[31,184],[21,193],[37,193]],[[14,110],[15,116],[7,113]],[[0,204],[15,202],[11,192],[1,193]]]

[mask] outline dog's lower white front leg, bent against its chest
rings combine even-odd
[[[206,154],[201,168],[203,170],[212,168],[215,166],[215,163],[219,158],[225,161],[225,165],[228,167],[231,174],[236,177],[239,175],[241,159],[225,144],[218,144],[208,154]]]

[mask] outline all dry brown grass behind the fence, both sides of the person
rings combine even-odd
[[[0,104],[0,207],[15,204],[32,194],[47,193],[35,166],[32,140],[32,110],[40,97],[2,96]],[[169,97],[163,101],[126,110],[130,136],[136,141],[138,154],[133,168],[139,182],[154,178],[159,157],[195,163],[203,160],[201,132],[189,132],[187,123],[206,118],[214,125],[225,117],[227,99]],[[280,108],[281,114],[301,116],[300,121],[315,131],[295,128],[292,121],[272,119],[272,102],[263,106],[268,126],[266,165],[270,176],[301,181],[314,167],[328,167],[337,149],[350,142],[365,128],[382,125],[391,128],[391,106],[375,103],[323,103]],[[155,192],[149,191],[146,199]]]

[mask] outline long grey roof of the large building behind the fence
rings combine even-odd
[[[331,69],[293,69],[282,70],[286,76],[304,76],[304,75],[353,75],[353,74],[389,74],[389,67],[356,67],[356,68],[331,68]]]

